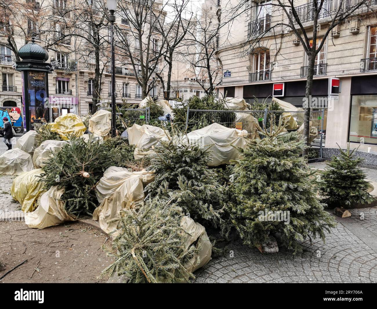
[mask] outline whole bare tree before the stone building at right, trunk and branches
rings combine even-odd
[[[294,0],[273,0],[261,3],[250,3],[248,0],[241,0],[237,6],[231,8],[231,12],[228,12],[231,19],[235,19],[244,12],[255,11],[255,7],[258,7],[255,11],[257,15],[253,22],[249,24],[250,41],[246,43],[246,50],[249,54],[260,45],[266,34],[271,35],[271,33],[274,34],[275,38],[287,36],[287,33],[288,35],[294,35],[297,37],[297,42],[303,46],[307,55],[307,82],[305,88],[307,104],[304,109],[303,136],[307,144],[316,58],[333,29],[347,20],[355,19],[356,22],[359,22],[360,17],[357,14],[360,12],[373,12],[370,4],[370,0],[314,0],[304,6],[297,6]],[[267,14],[258,16],[259,12],[267,12]],[[281,16],[281,20],[274,22],[271,19],[274,16]],[[323,29],[322,27],[321,29],[319,20],[323,18],[328,19],[328,21],[326,21],[325,28]],[[303,156],[307,155],[308,149],[303,153]]]

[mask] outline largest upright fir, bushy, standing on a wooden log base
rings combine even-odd
[[[253,139],[243,159],[234,162],[227,210],[244,243],[262,246],[268,235],[277,233],[294,253],[300,242],[334,227],[333,219],[316,198],[314,181],[301,154],[304,142],[296,133],[284,133],[281,122],[263,130],[264,139]]]

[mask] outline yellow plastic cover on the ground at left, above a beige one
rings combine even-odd
[[[13,179],[11,195],[15,201],[18,201],[23,212],[32,212],[37,207],[38,197],[45,192],[43,190],[44,182],[39,181],[38,176],[42,173],[41,168],[21,173]]]

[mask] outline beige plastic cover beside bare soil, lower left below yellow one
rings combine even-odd
[[[63,192],[64,189],[58,190],[56,185],[44,192],[38,198],[37,209],[25,213],[26,225],[35,229],[44,229],[64,221],[75,221],[77,217],[64,210],[64,202],[60,200]]]

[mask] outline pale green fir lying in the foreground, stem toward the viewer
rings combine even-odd
[[[173,199],[153,199],[138,210],[123,209],[112,248],[115,261],[104,273],[126,275],[130,283],[173,283],[195,278],[185,270],[200,248],[185,249],[187,234],[180,227],[182,209]]]

